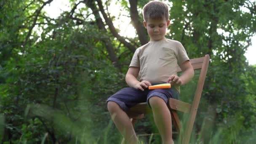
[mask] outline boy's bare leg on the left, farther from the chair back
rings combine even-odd
[[[114,101],[109,101],[107,108],[118,131],[125,138],[125,144],[136,144],[138,138],[128,115]]]

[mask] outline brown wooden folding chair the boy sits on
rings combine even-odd
[[[209,61],[210,61],[209,55],[205,55],[204,57],[201,57],[201,58],[190,59],[190,62],[194,70],[201,69],[199,80],[197,82],[197,88],[195,91],[194,100],[192,104],[179,101],[176,99],[171,99],[171,98],[168,100],[168,107],[171,112],[173,125],[176,128],[176,131],[179,134],[181,134],[182,144],[189,143],[190,135],[192,133],[192,128],[193,128],[195,117],[197,114],[197,108],[198,108],[201,94],[203,91],[203,85],[205,82]],[[178,72],[181,72],[181,69],[179,67],[178,67]],[[139,103],[131,107],[131,109],[127,111],[127,114],[131,118],[133,127],[135,124],[135,120],[143,118],[144,114],[147,114],[149,111],[150,109],[146,102]],[[176,111],[180,111],[188,114],[188,119],[185,120],[185,125],[184,125],[184,128],[182,129],[183,133],[181,133],[181,122],[179,120],[179,116]]]

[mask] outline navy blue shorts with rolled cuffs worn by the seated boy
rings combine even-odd
[[[108,101],[115,101],[124,111],[133,107],[134,105],[146,102],[149,104],[149,98],[158,96],[162,98],[167,104],[168,98],[179,99],[179,92],[176,88],[163,88],[163,89],[145,89],[144,91],[135,88],[123,88],[117,91],[114,95],[107,99]],[[150,107],[150,106],[149,106]]]

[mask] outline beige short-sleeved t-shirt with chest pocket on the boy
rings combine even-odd
[[[180,42],[164,39],[137,48],[129,67],[140,67],[139,81],[159,84],[166,83],[171,75],[177,75],[177,67],[187,60],[189,57]],[[176,89],[179,91],[179,87]]]

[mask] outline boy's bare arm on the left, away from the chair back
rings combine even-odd
[[[139,67],[129,67],[126,76],[125,81],[131,88],[140,89],[141,91],[144,91],[144,88],[147,88],[151,85],[148,81],[144,80],[140,82],[137,80],[137,77],[139,75]]]

